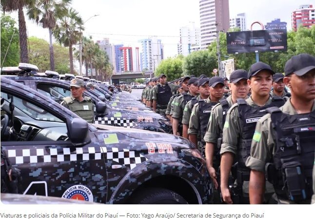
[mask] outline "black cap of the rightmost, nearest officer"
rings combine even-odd
[[[292,56],[284,66],[284,76],[295,73],[301,76],[315,69],[315,56],[309,54],[299,54]]]

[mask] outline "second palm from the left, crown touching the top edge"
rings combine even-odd
[[[49,30],[50,69],[52,71],[55,71],[52,31],[56,26],[56,20],[66,15],[70,3],[71,0],[33,0],[28,7],[28,17]]]

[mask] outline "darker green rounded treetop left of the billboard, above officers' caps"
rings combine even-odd
[[[217,56],[208,50],[201,50],[187,55],[183,61],[183,75],[200,74],[213,76],[213,69],[217,68]]]

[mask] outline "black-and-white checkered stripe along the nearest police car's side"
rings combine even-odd
[[[117,147],[101,147],[101,151],[96,152],[95,147],[77,147],[73,152],[70,151],[70,148],[39,148],[8,150],[7,154],[11,164],[100,160],[104,153],[107,160],[113,160],[132,169],[147,160],[138,151],[128,149],[119,151]]]

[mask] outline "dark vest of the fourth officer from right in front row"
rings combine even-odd
[[[207,103],[204,100],[198,101],[199,106],[199,124],[200,124],[200,137],[201,141],[204,142],[203,137],[207,131],[207,126],[209,122],[209,118],[211,115],[211,109],[217,105],[217,102]]]

